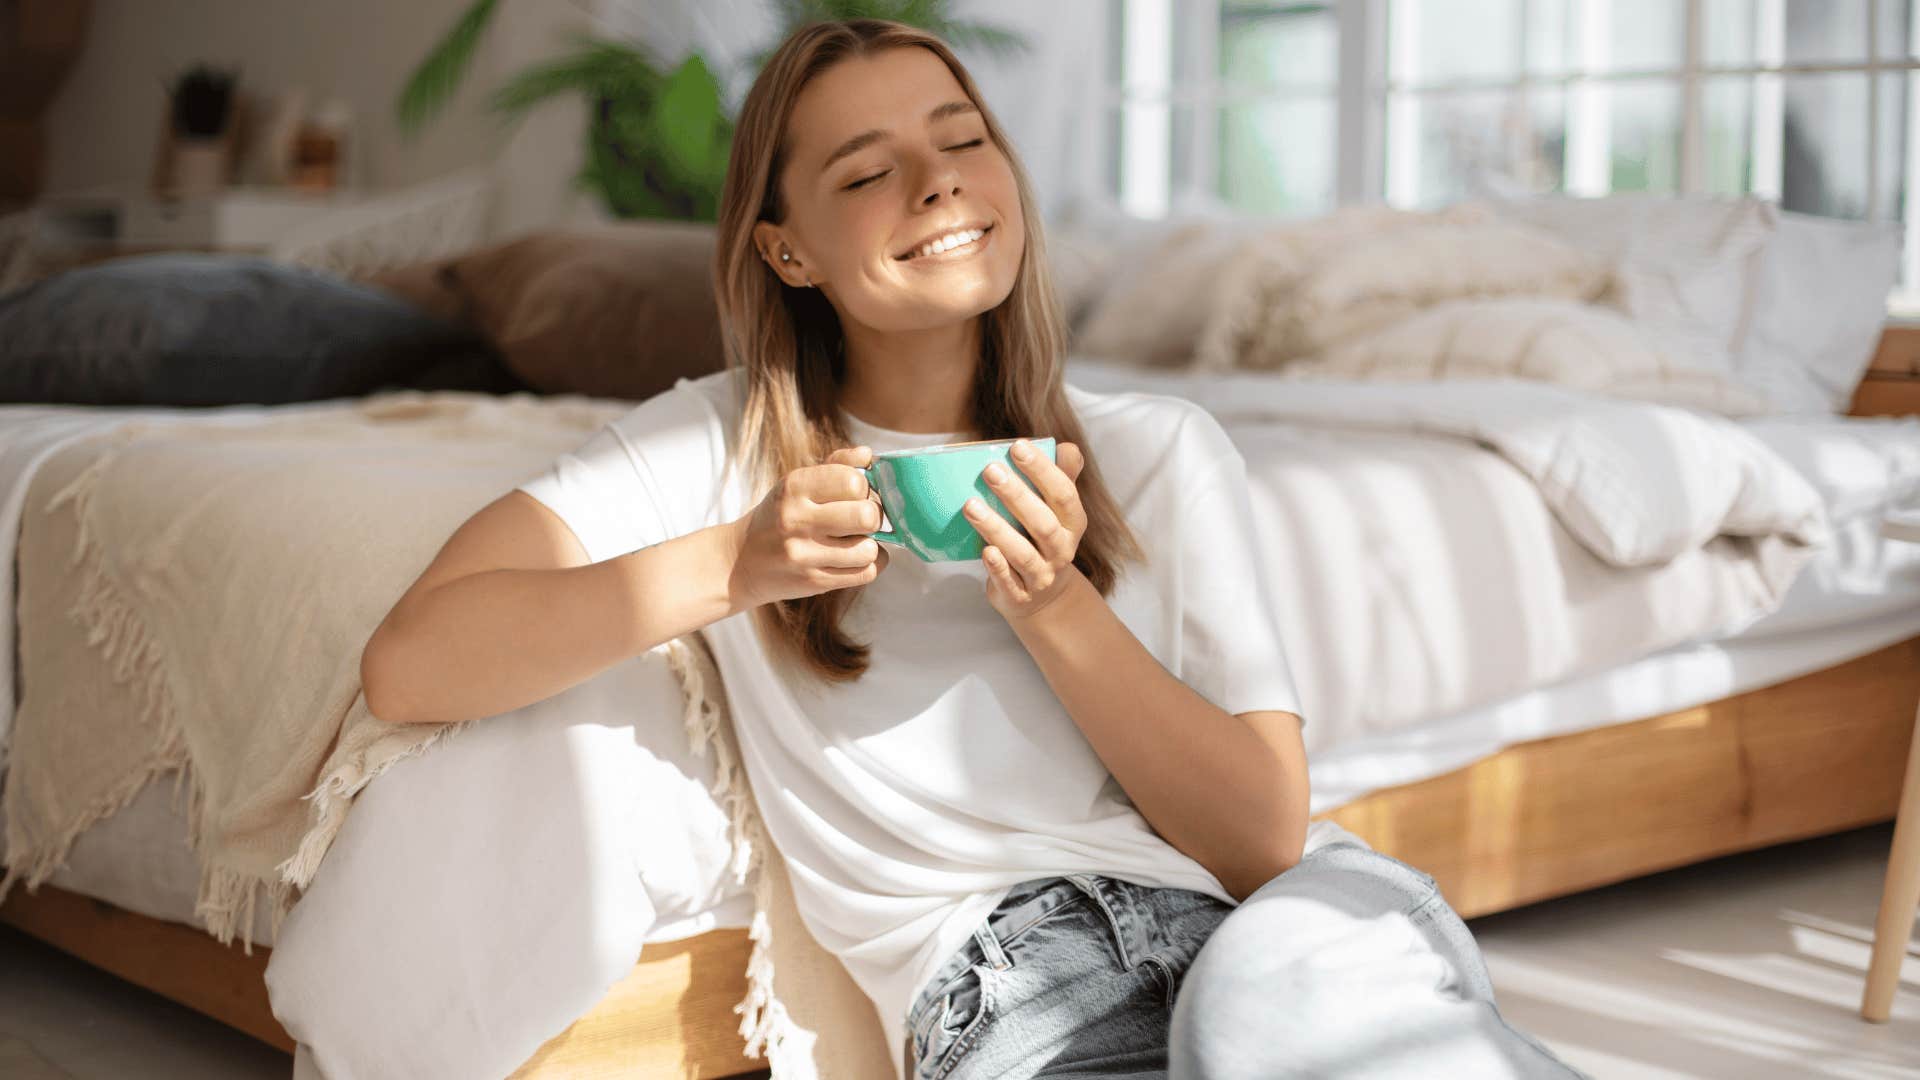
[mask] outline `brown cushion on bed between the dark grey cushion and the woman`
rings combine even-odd
[[[645,400],[726,365],[714,227],[636,221],[541,231],[374,279],[459,311],[543,394]]]

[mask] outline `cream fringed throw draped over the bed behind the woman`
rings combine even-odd
[[[81,832],[177,769],[202,869],[196,913],[252,953],[265,892],[278,936],[359,790],[467,728],[374,719],[361,646],[467,517],[630,407],[392,392],[246,425],[131,421],[50,459],[50,473],[73,465],[27,513],[69,515],[58,525],[71,528],[33,532],[73,544],[36,571],[77,577],[63,615],[92,653],[40,657],[23,680],[0,899],[15,882],[36,888]],[[81,450],[90,459],[65,457]],[[25,588],[21,601],[25,617]],[[662,646],[687,692],[687,734],[714,746],[737,880],[762,871],[737,1007],[749,1053],[781,1080],[885,1076],[872,1003],[804,930],[780,859],[764,859],[718,673],[689,640]],[[102,667],[119,698],[84,686]],[[108,701],[121,707],[77,707]]]

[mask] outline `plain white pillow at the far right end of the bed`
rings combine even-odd
[[[1899,281],[1903,227],[1780,211],[1736,371],[1786,413],[1845,413]]]

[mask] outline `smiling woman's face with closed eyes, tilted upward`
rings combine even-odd
[[[835,63],[801,90],[787,138],[776,179],[787,221],[756,225],[787,282],[810,279],[843,319],[885,332],[952,325],[1014,290],[1025,252],[1020,188],[935,54],[889,48]],[[925,250],[981,229],[972,244]],[[793,259],[781,263],[787,250]]]

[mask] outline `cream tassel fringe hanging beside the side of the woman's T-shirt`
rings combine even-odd
[[[685,638],[674,638],[657,651],[666,653],[666,663],[680,676],[685,696],[685,726],[693,753],[707,755],[714,748],[712,794],[728,811],[733,832],[733,849],[728,869],[735,882],[753,876],[753,924],[747,938],[753,951],[747,957],[747,997],[733,1011],[741,1015],[739,1034],[747,1040],[747,1057],[764,1057],[774,1080],[818,1080],[814,1070],[814,1034],[801,1028],[787,1007],[774,995],[774,930],[768,911],[774,903],[772,878],[762,865],[766,859],[766,826],[760,821],[758,805],[747,786],[735,746],[724,738],[722,723],[730,717],[720,701],[708,694],[708,678],[720,682],[712,657],[705,642],[691,646]]]

